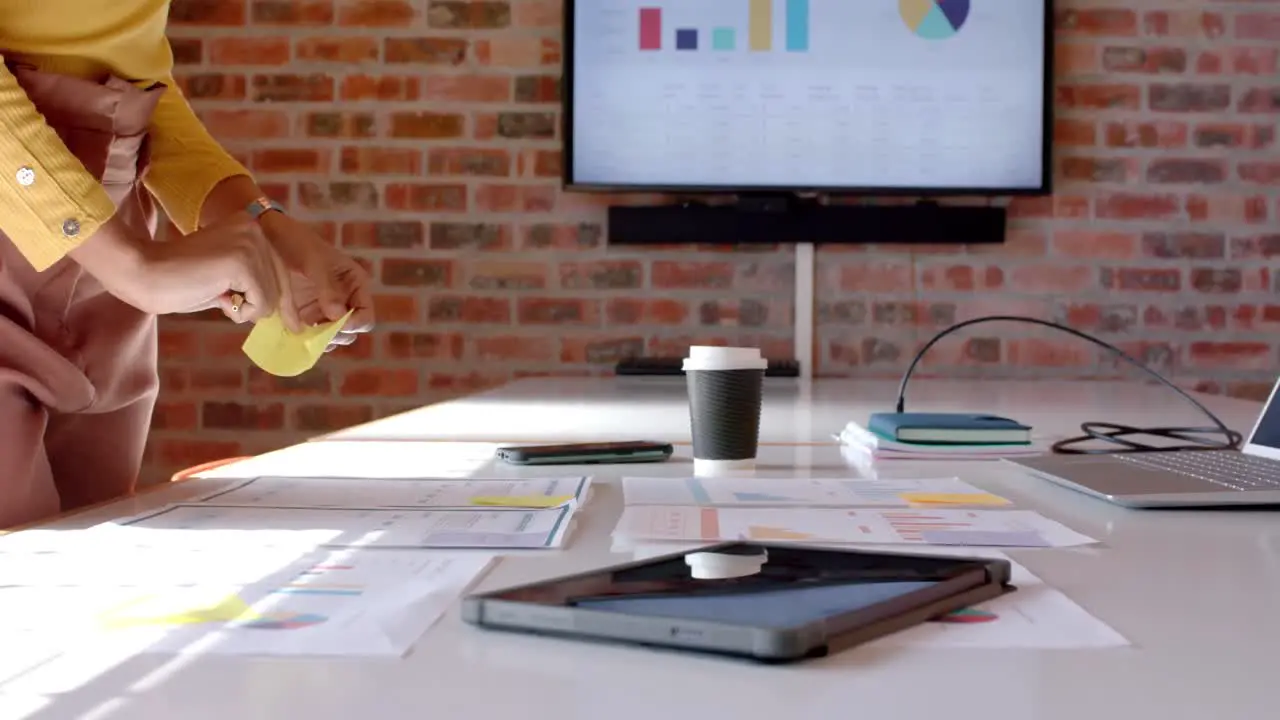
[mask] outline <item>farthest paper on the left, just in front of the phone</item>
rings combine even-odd
[[[262,507],[558,507],[585,502],[590,478],[255,478],[196,502]]]

